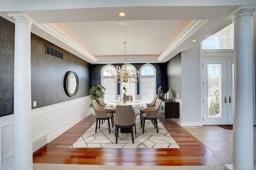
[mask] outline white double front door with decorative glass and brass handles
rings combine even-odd
[[[233,124],[233,59],[203,60],[204,125]]]

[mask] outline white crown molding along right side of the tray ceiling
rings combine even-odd
[[[174,40],[174,42],[158,57],[162,61],[168,54],[174,51],[180,44],[185,42],[192,34],[194,34],[201,26],[209,20],[193,20],[191,24]]]

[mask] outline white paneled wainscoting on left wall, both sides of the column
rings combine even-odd
[[[33,152],[91,114],[90,101],[86,96],[32,110]],[[13,114],[0,117],[0,146],[0,170],[14,170]]]

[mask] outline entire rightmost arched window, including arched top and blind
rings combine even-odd
[[[156,68],[152,64],[144,64],[140,68],[140,99],[152,102],[156,96]]]

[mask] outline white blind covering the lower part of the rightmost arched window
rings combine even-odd
[[[146,103],[151,103],[156,96],[155,77],[142,76],[140,78],[140,98]]]

